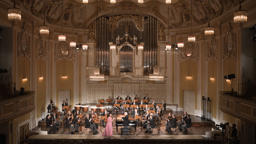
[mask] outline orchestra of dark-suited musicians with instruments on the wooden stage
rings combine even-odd
[[[155,122],[157,122],[158,130],[160,130],[162,120],[160,120],[159,117],[163,116],[163,111],[166,110],[166,104],[165,104],[164,100],[162,100],[162,103],[161,103],[163,105],[163,108],[161,108],[162,105],[160,107],[159,105],[156,104],[155,100],[152,100],[151,104],[154,105],[155,112],[154,113],[152,113],[152,112],[149,113],[150,108],[148,108],[147,102],[143,102],[143,99],[148,100],[148,102],[150,101],[151,98],[148,98],[148,95],[146,95],[146,97],[141,99],[140,102],[138,102],[138,103],[135,101],[135,100],[138,100],[137,95],[135,96],[135,99],[131,103],[126,101],[126,100],[131,100],[131,98],[127,95],[127,98],[125,98],[126,100],[124,100],[124,103],[123,103],[125,105],[125,107],[122,107],[122,102],[120,102],[120,103],[117,102],[117,99],[121,99],[121,97],[118,95],[118,97],[113,102],[113,105],[112,105],[113,107],[112,108],[113,108],[113,110],[119,110],[121,108],[122,113],[124,115],[118,115],[117,116],[117,118],[115,120],[116,121],[116,127],[118,125],[128,127],[127,126],[127,123],[128,123],[129,126],[133,125],[135,127],[135,132],[136,132],[136,126],[139,123],[139,121],[141,120],[141,125],[143,126],[142,128],[146,129],[146,131],[144,133],[149,133],[150,134],[151,133],[150,129],[155,127],[155,125],[156,125]],[[119,107],[118,106],[114,107],[114,104],[120,104],[120,106]],[[131,105],[139,106],[141,116],[140,116],[140,113],[138,112],[137,107],[134,107],[134,106],[131,106]],[[143,106],[140,107],[140,105],[145,105],[144,106],[145,108],[143,108]],[[74,114],[73,114],[71,112],[71,109],[67,109],[67,107],[66,107],[66,109],[64,109],[63,108],[64,106],[68,106],[68,104],[65,102],[65,100],[63,100],[63,103],[62,103],[62,111],[64,110],[63,112],[64,112],[64,114],[66,114],[66,117],[64,118],[64,120],[66,121],[65,122],[65,125],[66,125],[65,128],[71,128],[71,134],[82,131],[82,125],[83,124],[85,124],[84,128],[90,128],[92,130],[93,134],[98,134],[99,133],[98,130],[97,130],[98,129],[98,123],[101,121],[102,126],[104,128],[104,126],[108,122],[107,119],[98,117],[97,109],[90,110],[89,114],[85,113],[86,112],[85,111],[84,112],[85,113],[85,120],[84,120],[84,122],[82,122],[82,117],[83,117],[84,114],[82,114],[83,111],[81,109],[80,109],[81,111],[79,111],[78,108],[76,108],[76,110],[74,109],[73,110]],[[131,114],[133,116],[132,118],[130,118],[130,116],[128,116],[128,113],[127,113],[130,108],[133,110],[132,114]],[[60,116],[57,115],[58,109],[57,109],[57,112],[56,112],[56,109],[57,108],[53,105],[53,102],[51,100],[50,105],[48,105],[48,107],[47,107],[47,110],[48,110],[49,114],[46,116],[46,127],[51,128],[50,131],[48,131],[48,134],[51,134],[52,130],[55,133],[57,133],[56,132],[57,130],[60,130],[61,123],[58,122],[58,120],[60,119]],[[112,112],[114,112],[113,110],[112,110]],[[52,114],[52,116],[51,116],[51,114]],[[104,112],[99,113],[99,115],[101,115],[101,114],[102,114],[102,116],[107,116],[110,113],[105,108]],[[127,116],[128,116],[128,118],[126,118]],[[140,118],[135,117],[135,116],[140,116]],[[124,123],[124,121],[127,121],[127,119],[128,119],[128,122],[125,122],[126,124],[124,125],[123,123]],[[182,119],[180,121],[177,120],[176,115],[172,114],[172,113],[169,113],[168,116],[165,117],[165,120],[166,120],[166,121],[164,121],[165,122],[165,127],[166,127],[165,130],[170,134],[172,133],[171,128],[174,128],[176,123],[177,123],[177,126],[179,128],[178,130],[183,131],[183,133],[186,133],[186,128],[188,128],[191,125],[190,115],[188,115],[186,111],[184,112],[184,115],[182,116]],[[63,122],[63,121],[61,121],[61,122]],[[116,129],[116,131],[118,131],[118,129]],[[125,131],[124,134],[128,134],[127,131]]]

